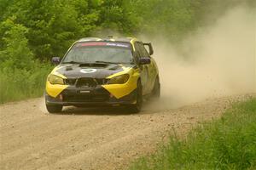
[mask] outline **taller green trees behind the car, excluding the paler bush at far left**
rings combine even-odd
[[[81,37],[143,33],[164,34],[177,41],[242,2],[254,4],[252,0],[0,0],[0,22],[12,20],[26,27],[32,53],[38,59],[49,59],[63,56]],[[0,37],[5,31],[1,24]]]

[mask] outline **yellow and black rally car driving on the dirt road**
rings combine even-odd
[[[87,37],[74,42],[46,81],[49,113],[63,106],[125,105],[139,112],[143,99],[160,97],[160,77],[151,43],[137,38]]]

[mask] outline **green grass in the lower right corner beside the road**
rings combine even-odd
[[[139,158],[129,169],[256,169],[256,99],[233,105],[186,139],[170,137],[158,152]]]

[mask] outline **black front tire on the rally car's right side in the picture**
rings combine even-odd
[[[136,97],[136,104],[129,105],[129,111],[131,111],[131,113],[138,113],[142,110],[143,107],[143,86],[140,81],[137,82]]]

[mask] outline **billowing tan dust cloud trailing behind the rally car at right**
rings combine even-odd
[[[208,98],[256,93],[255,10],[231,8],[211,27],[197,31],[181,47],[152,41],[161,99],[154,108],[173,108]]]

